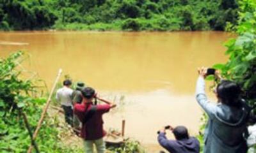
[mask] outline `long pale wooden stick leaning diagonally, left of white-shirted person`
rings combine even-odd
[[[46,105],[45,105],[45,107],[44,107],[44,110],[43,110],[43,112],[42,112],[42,114],[41,114],[41,118],[40,118],[40,120],[38,121],[38,124],[37,124],[37,126],[36,126],[35,133],[33,134],[33,140],[36,139],[36,136],[37,136],[37,134],[38,134],[38,131],[39,131],[39,129],[40,129],[41,126],[42,126],[42,122],[43,122],[43,120],[44,120],[45,113],[47,112],[47,108],[48,108],[49,105],[50,105],[52,94],[53,94],[54,89],[55,89],[55,87],[56,87],[56,85],[57,85],[57,83],[58,83],[58,80],[60,79],[61,73],[62,73],[62,69],[59,69],[57,78],[56,78],[56,80],[55,80],[55,82],[54,82],[54,84],[53,84],[53,86],[52,86],[52,90],[51,90],[50,95],[49,95],[49,97],[48,97],[48,99],[47,99],[47,103],[46,103]],[[29,149],[28,149],[28,153],[31,153],[32,149],[33,149],[33,144],[30,145],[30,147],[29,147]]]

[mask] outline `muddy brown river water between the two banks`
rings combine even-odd
[[[227,61],[223,42],[229,37],[222,32],[11,32],[0,33],[0,57],[26,50],[31,55],[26,68],[49,89],[62,68],[64,75],[120,104],[105,115],[106,129],[120,129],[125,119],[126,136],[157,146],[156,131],[166,124],[198,134],[196,68]]]

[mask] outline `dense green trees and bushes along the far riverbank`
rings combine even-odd
[[[2,30],[223,31],[236,0],[0,0]]]

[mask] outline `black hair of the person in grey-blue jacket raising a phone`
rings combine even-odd
[[[241,88],[235,82],[229,80],[223,80],[217,86],[217,94],[218,98],[220,98],[221,103],[234,106],[241,107]]]

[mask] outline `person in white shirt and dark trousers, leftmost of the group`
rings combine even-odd
[[[72,105],[72,92],[70,88],[72,85],[71,80],[64,80],[63,87],[56,92],[56,99],[61,103],[61,107],[65,113],[65,121],[73,126],[73,105]]]

